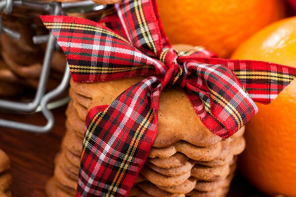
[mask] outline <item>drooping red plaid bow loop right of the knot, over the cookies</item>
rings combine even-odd
[[[254,101],[227,66],[197,61],[185,65],[187,74],[191,73],[186,79],[188,98],[213,133],[227,138],[258,112]]]

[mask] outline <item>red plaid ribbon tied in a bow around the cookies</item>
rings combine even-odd
[[[257,112],[251,98],[269,103],[296,77],[288,66],[211,58],[198,47],[176,52],[154,0],[124,0],[115,7],[116,20],[107,26],[116,33],[85,19],[42,17],[75,82],[148,76],[109,106],[88,113],[78,197],[128,195],[155,139],[159,96],[166,86],[183,88],[204,125],[227,138]]]

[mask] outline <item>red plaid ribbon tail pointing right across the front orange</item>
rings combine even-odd
[[[230,68],[256,102],[270,103],[276,99],[295,78],[296,68],[269,62],[252,60],[226,60],[220,58],[195,59],[208,64],[220,64]]]

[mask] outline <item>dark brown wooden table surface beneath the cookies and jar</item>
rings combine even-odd
[[[13,197],[45,197],[44,186],[54,170],[53,160],[59,151],[65,132],[66,106],[54,109],[55,127],[49,133],[39,134],[0,128],[0,149],[11,160]],[[45,124],[41,113],[16,115],[0,113],[0,118]],[[236,172],[229,197],[263,197]]]

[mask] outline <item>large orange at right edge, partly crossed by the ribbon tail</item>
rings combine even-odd
[[[273,23],[244,42],[232,59],[296,67],[296,17]],[[247,124],[243,175],[262,192],[296,197],[296,80]]]

